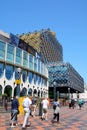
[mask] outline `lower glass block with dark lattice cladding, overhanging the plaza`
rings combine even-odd
[[[84,80],[70,63],[55,62],[54,66],[53,63],[49,64],[48,71],[50,97],[63,97],[64,93],[73,97],[73,93],[77,95],[84,92]]]

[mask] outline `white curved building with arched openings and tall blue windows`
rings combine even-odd
[[[48,69],[40,54],[13,34],[0,31],[0,95],[48,96]]]

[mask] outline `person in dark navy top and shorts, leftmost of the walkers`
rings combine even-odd
[[[18,114],[18,97],[14,97],[11,102],[11,127],[15,127],[18,124],[17,114]]]

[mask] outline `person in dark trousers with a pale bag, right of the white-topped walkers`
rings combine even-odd
[[[60,116],[60,104],[57,100],[57,98],[55,99],[55,101],[53,102],[53,110],[54,110],[54,116],[53,116],[53,119],[52,119],[52,123],[59,123],[59,116]],[[56,119],[56,120],[55,120]]]

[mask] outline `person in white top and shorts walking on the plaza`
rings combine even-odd
[[[42,113],[42,117],[41,117],[42,120],[43,119],[47,120],[48,106],[49,106],[49,101],[47,100],[47,98],[43,99],[42,100],[42,110],[43,110],[43,113]]]

